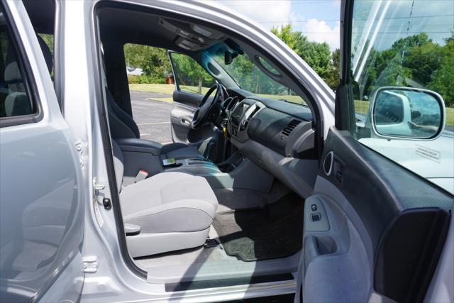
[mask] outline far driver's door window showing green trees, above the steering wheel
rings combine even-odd
[[[216,84],[214,78],[188,55],[172,53],[172,64],[178,88],[182,92],[204,95]]]

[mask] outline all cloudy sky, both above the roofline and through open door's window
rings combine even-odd
[[[341,0],[216,0],[253,19],[265,28],[292,24],[315,42],[326,42],[331,50],[339,48],[339,18]],[[454,0],[399,0],[358,1],[356,18],[368,18],[372,6],[380,6],[384,22],[374,40],[375,48],[389,48],[394,41],[408,35],[425,32],[436,43],[443,45],[445,38],[454,33]],[[365,13],[362,16],[362,13]],[[380,15],[380,13],[379,13]],[[375,16],[378,18],[378,15]],[[361,34],[365,24],[355,23]],[[355,26],[355,25],[354,25]],[[370,37],[369,37],[370,38]]]

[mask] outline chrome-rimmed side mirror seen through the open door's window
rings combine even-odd
[[[372,100],[372,129],[384,138],[433,139],[445,127],[445,102],[436,92],[381,87]]]

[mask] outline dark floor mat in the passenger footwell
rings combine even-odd
[[[283,258],[301,250],[303,204],[289,193],[262,208],[218,213],[213,226],[228,255],[243,261]]]

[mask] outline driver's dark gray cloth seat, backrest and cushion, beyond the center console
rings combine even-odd
[[[106,88],[107,110],[109,111],[109,126],[111,128],[111,136],[114,139],[118,138],[140,138],[140,132],[133,118],[121,109],[116,104],[114,97],[109,89]],[[153,145],[160,143],[153,142]],[[202,158],[200,151],[197,148],[184,143],[170,143],[161,145],[161,158],[163,159],[186,159],[186,158]]]

